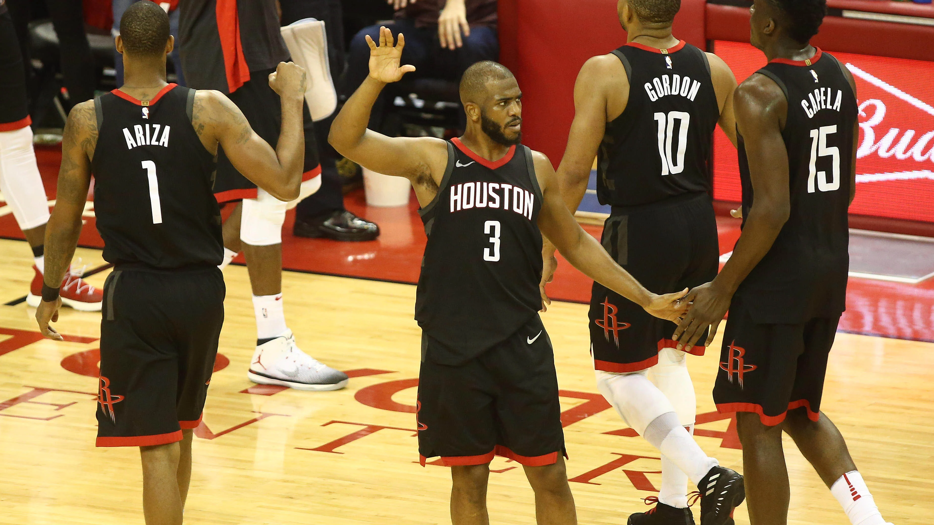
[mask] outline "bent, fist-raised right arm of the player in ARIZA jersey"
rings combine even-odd
[[[211,146],[209,151],[219,144],[244,177],[288,202],[298,198],[304,168],[304,69],[280,62],[269,76],[269,85],[278,93],[282,106],[276,149],[253,131],[240,108],[221,92],[197,92],[191,123],[205,147]]]

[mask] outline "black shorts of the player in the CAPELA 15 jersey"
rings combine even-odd
[[[784,421],[788,410],[804,408],[816,421],[839,322],[838,316],[758,324],[734,297],[714,386],[717,411],[755,412],[772,426]]]

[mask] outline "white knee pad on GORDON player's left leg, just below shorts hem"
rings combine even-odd
[[[597,370],[597,389],[619,416],[639,435],[662,414],[673,412],[672,404],[646,377],[646,371],[615,374]]]

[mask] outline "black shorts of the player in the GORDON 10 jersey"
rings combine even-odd
[[[714,206],[706,193],[672,197],[649,206],[614,207],[603,225],[603,248],[649,291],[694,288],[716,277],[719,242]],[[589,312],[594,368],[638,372],[658,362],[658,351],[674,348],[677,325],[648,314],[640,305],[593,283]],[[704,341],[706,333],[701,338]],[[703,355],[704,348],[691,349]]]

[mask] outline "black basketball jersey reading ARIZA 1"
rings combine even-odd
[[[214,156],[191,126],[194,90],[169,84],[149,103],[94,99],[94,214],[106,262],[159,269],[218,265]]]

